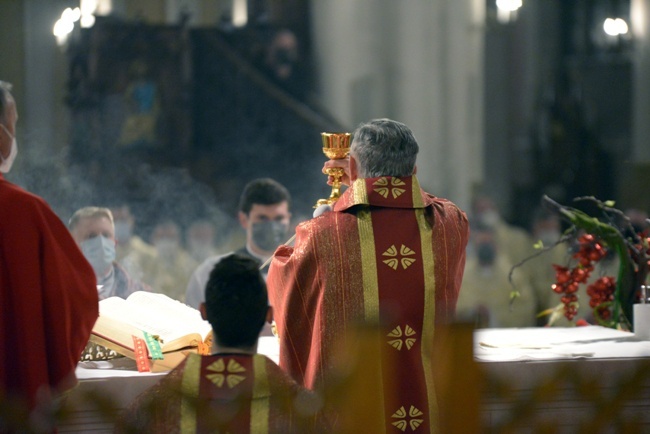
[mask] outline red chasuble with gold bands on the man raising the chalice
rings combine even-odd
[[[359,220],[367,212],[371,235],[359,230]],[[324,386],[323,377],[333,368],[333,349],[350,326],[367,319],[365,273],[365,278],[377,282],[378,320],[388,332],[399,334],[387,337],[381,347],[386,360],[396,357],[398,363],[397,370],[384,365],[387,421],[390,424],[393,413],[406,403],[407,412],[410,405],[426,409],[420,337],[426,331],[424,336],[434,340],[435,324],[453,317],[468,236],[465,214],[448,200],[422,191],[415,177],[355,181],[333,212],[298,226],[295,247],[281,246],[275,252],[267,285],[280,337],[280,366],[308,388]],[[362,259],[369,238],[374,264]],[[372,266],[376,270],[368,271]],[[429,295],[435,306],[426,316],[424,282],[427,276],[431,282],[431,275],[435,293]],[[431,323],[425,323],[425,317]],[[402,348],[410,337],[406,326],[415,340]],[[399,353],[388,341],[400,345]],[[432,356],[426,354],[425,359]],[[421,419],[423,431],[428,430],[426,416]]]

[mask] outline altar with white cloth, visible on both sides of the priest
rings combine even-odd
[[[649,341],[598,326],[481,329],[472,341],[484,431],[650,432]],[[259,351],[277,360],[275,338],[262,338]],[[138,373],[128,360],[92,363],[77,368],[59,432],[111,432],[119,411],[164,375]]]

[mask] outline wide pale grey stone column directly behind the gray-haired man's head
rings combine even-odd
[[[373,117],[409,125],[423,186],[464,208],[482,177],[484,8],[481,0],[312,4],[325,106],[351,127]]]

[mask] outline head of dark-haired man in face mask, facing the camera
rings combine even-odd
[[[249,182],[239,200],[239,223],[246,246],[258,256],[271,256],[287,237],[291,195],[279,182],[259,178]]]

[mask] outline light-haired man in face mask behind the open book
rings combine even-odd
[[[81,208],[72,215],[68,227],[95,271],[100,300],[113,296],[126,298],[135,291],[149,291],[148,286],[131,279],[115,261],[115,226],[108,208]]]

